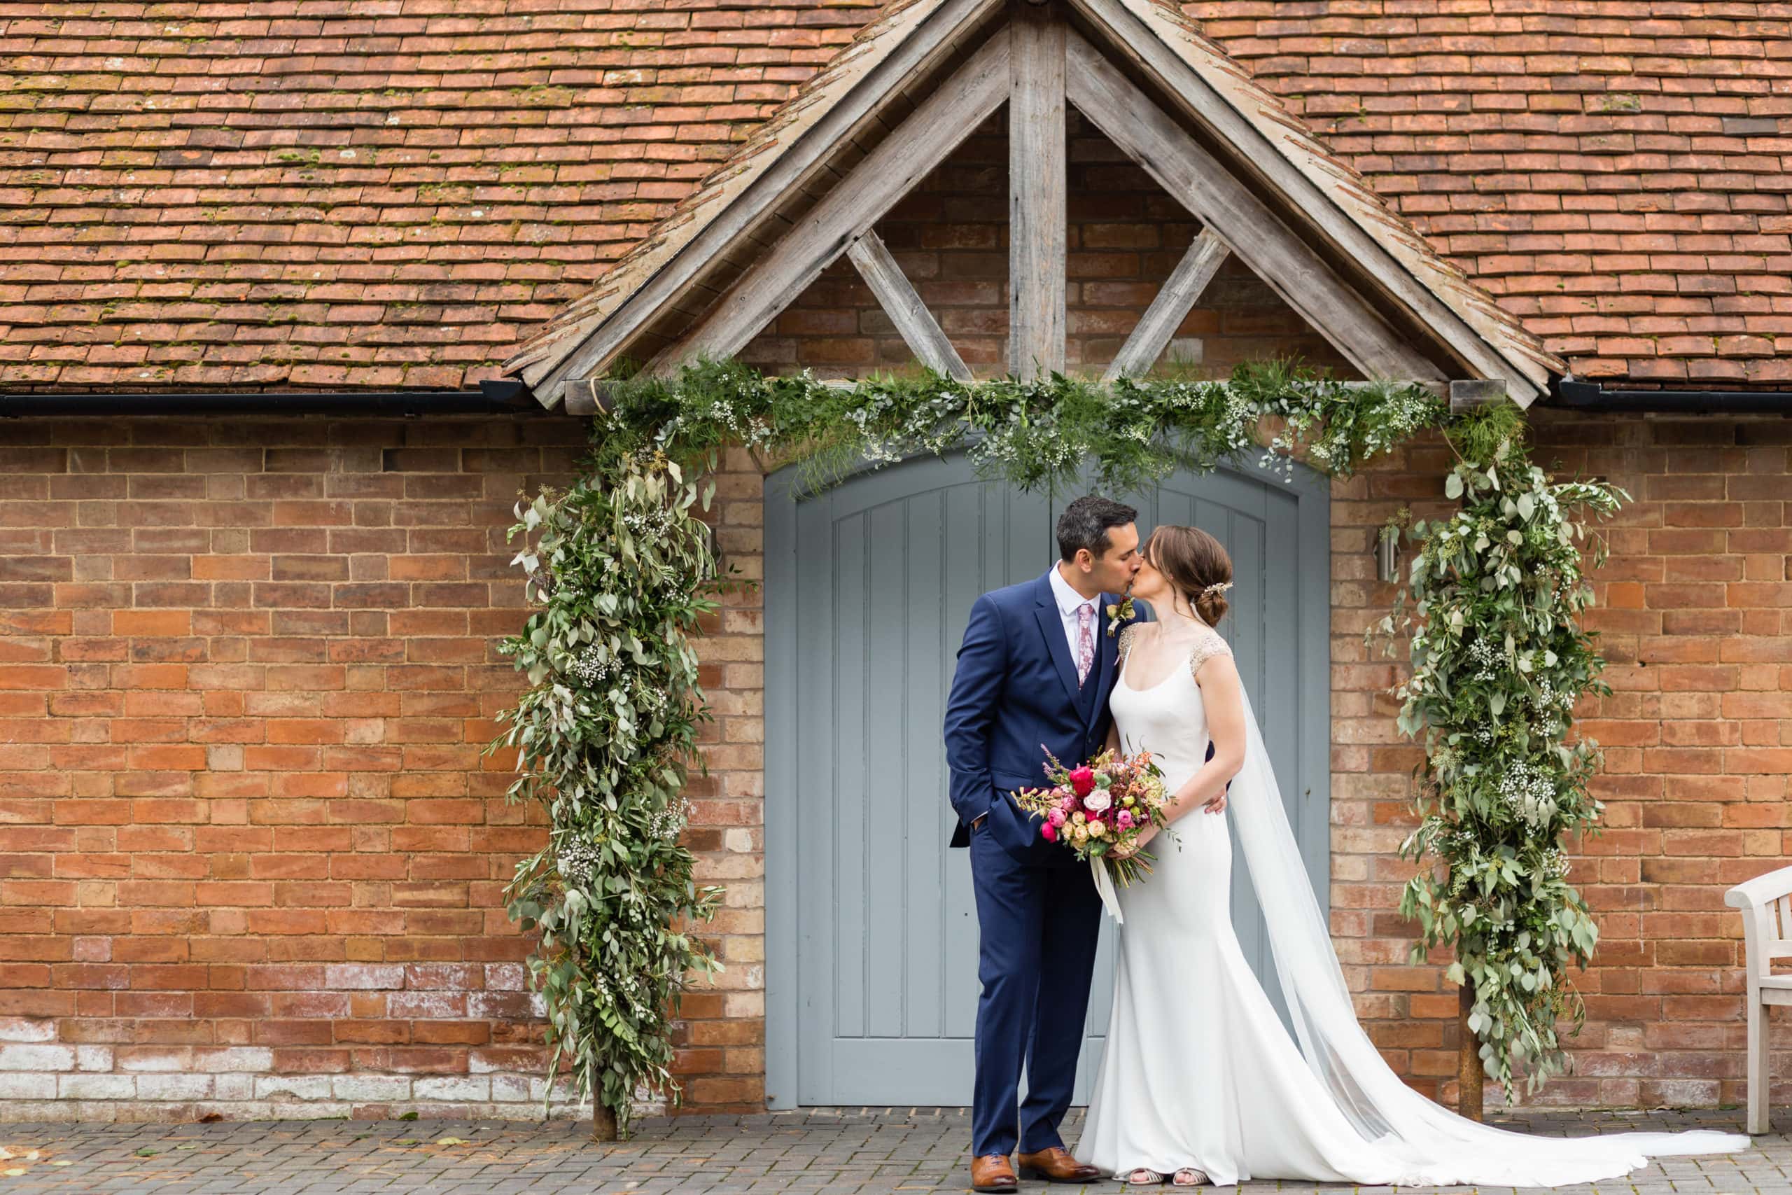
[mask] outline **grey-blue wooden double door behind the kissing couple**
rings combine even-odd
[[[962,457],[819,494],[792,473],[765,494],[767,1102],[969,1104],[977,912],[968,853],[946,847],[944,701],[971,602],[1057,559],[1052,529],[1075,494],[980,482]],[[1220,471],[1127,502],[1142,534],[1193,523],[1231,552],[1222,631],[1326,905],[1326,487]],[[1236,856],[1233,923],[1279,1005]],[[1077,1102],[1100,1062],[1113,933],[1104,917]]]

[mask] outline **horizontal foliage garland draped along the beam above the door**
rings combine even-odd
[[[1090,482],[1136,493],[1177,469],[1299,451],[1349,475],[1369,457],[1437,426],[1446,407],[1416,385],[1353,385],[1294,362],[1244,364],[1229,380],[1120,378],[1111,385],[1052,373],[962,383],[934,371],[849,387],[810,371],[765,376],[737,360],[688,364],[677,378],[615,383],[599,417],[599,469],[643,451],[701,468],[728,444],[787,455],[812,486],[862,462],[964,450],[982,477],[1020,489]],[[1272,425],[1267,448],[1260,428]],[[1093,466],[1093,478],[1088,469]]]

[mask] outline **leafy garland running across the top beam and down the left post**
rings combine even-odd
[[[1296,453],[1344,477],[1448,416],[1423,387],[1344,383],[1290,362],[1240,365],[1222,382],[961,383],[923,371],[837,385],[702,360],[607,389],[586,477],[518,503],[511,537],[534,545],[514,563],[539,609],[502,650],[530,688],[498,715],[505,729],[487,751],[518,749],[509,795],[543,803],[550,819],[548,844],[505,892],[511,916],[541,935],[529,967],[547,1005],[548,1073],[570,1061],[579,1095],[613,1109],[624,1132],[638,1091],[679,1095],[672,1018],[692,975],[720,969],[686,932],[715,916],[720,889],[695,885],[677,838],[708,717],[690,640],[726,584],[694,514],[713,484],[699,498],[695,478],[726,448],[796,464],[812,486],[964,450],[982,477],[1021,489],[1133,493],[1253,457],[1288,473]]]

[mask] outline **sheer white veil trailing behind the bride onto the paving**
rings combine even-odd
[[[1749,1147],[1735,1132],[1615,1132],[1545,1138],[1493,1129],[1425,1098],[1382,1061],[1357,1021],[1331,933],[1319,912],[1251,699],[1245,758],[1228,812],[1269,926],[1276,975],[1301,1053],[1366,1141],[1428,1182],[1561,1186],[1611,1179],[1650,1156],[1724,1154]]]

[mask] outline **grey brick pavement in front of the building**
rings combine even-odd
[[[1736,1111],[1543,1113],[1496,1120],[1530,1132],[1620,1129],[1736,1129]],[[1066,1138],[1075,1139],[1081,1113]],[[1683,1191],[1792,1193],[1792,1138],[1785,1120],[1727,1157],[1681,1157],[1563,1193],[1679,1195]],[[652,1118],[629,1141],[597,1145],[581,1122],[310,1120],[211,1125],[0,1125],[14,1154],[0,1161],[0,1195],[323,1195],[333,1191],[729,1193],[957,1191],[966,1190],[964,1109],[805,1109],[760,1116]],[[450,1143],[443,1143],[448,1139]],[[464,1143],[457,1143],[464,1141]],[[66,1163],[66,1165],[57,1165]],[[22,1174],[14,1174],[14,1170]],[[1045,1184],[1025,1182],[1023,1191]],[[1054,1188],[1064,1190],[1070,1188]],[[1090,1190],[1090,1188],[1084,1188]],[[1093,1190],[1116,1191],[1104,1182]],[[1244,1193],[1330,1191],[1296,1182],[1247,1182]],[[1355,1188],[1387,1191],[1391,1188]],[[1416,1191],[1417,1188],[1405,1188]],[[1466,1191],[1468,1188],[1444,1188]],[[1511,1188],[1482,1188],[1511,1190]]]

